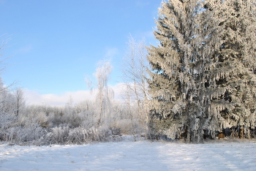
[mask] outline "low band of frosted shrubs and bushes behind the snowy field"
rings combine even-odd
[[[1,90],[0,140],[18,144],[47,145],[52,143],[85,143],[118,140],[121,134],[145,135],[136,105],[132,110],[124,103],[109,102],[104,113],[97,101],[78,104],[67,102],[63,107],[50,105],[17,105],[17,96]],[[19,110],[19,112],[18,112]],[[136,137],[137,136],[137,137]]]

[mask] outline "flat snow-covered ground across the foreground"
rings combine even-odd
[[[256,170],[256,142],[101,142],[19,146],[0,142],[0,170]]]

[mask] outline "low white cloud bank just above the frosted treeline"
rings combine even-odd
[[[110,86],[115,93],[114,99],[121,100],[121,83],[115,86]],[[82,102],[83,100],[93,100],[96,93],[91,91],[68,91],[64,94],[39,94],[37,91],[25,90],[26,102],[28,104],[49,104],[53,106],[64,105],[69,101],[70,96],[75,103]]]

